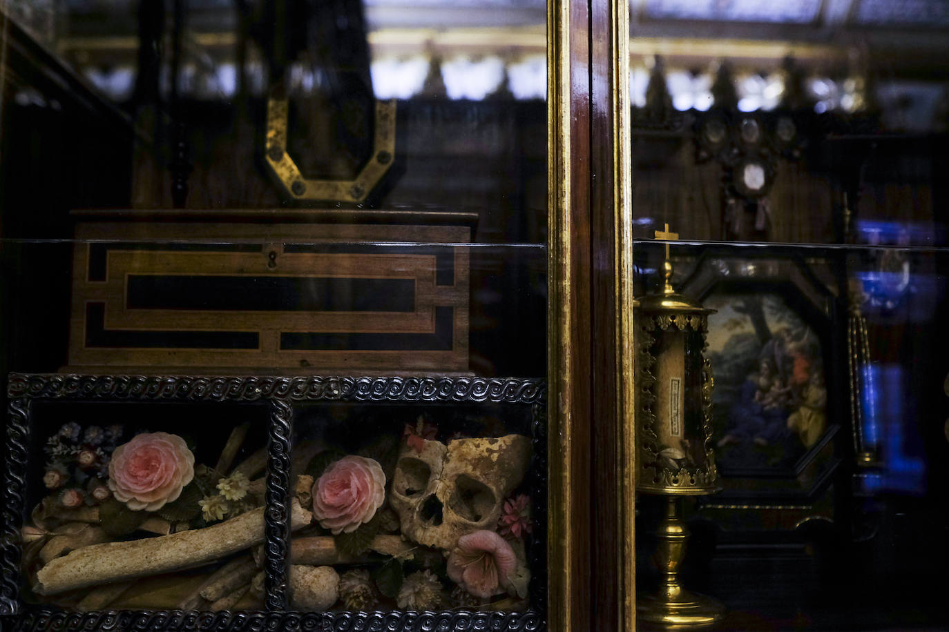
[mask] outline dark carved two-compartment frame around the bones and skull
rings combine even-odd
[[[534,538],[533,578],[526,612],[288,611],[288,506],[293,404],[521,404],[531,406],[530,471],[537,524],[547,524],[547,386],[542,380],[476,377],[144,376],[10,373],[7,388],[7,471],[0,541],[0,627],[4,630],[538,630],[547,601],[545,529]],[[104,610],[73,613],[26,606],[20,600],[20,530],[26,503],[30,408],[34,400],[140,402],[270,402],[265,511],[265,611]],[[9,627],[8,627],[9,626]]]

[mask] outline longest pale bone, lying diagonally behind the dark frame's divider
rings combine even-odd
[[[291,502],[290,530],[307,526],[312,515]],[[36,592],[52,595],[165,572],[193,569],[264,541],[264,508],[259,507],[204,529],[84,547],[58,557],[36,573]]]

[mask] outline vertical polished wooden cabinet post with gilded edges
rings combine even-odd
[[[636,626],[628,23],[548,3],[552,630]]]

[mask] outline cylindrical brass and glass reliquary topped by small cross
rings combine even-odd
[[[658,240],[677,240],[666,224]],[[659,594],[637,599],[638,618],[672,628],[711,625],[724,608],[679,583],[689,529],[680,517],[679,498],[718,491],[712,450],[712,364],[702,357],[708,310],[676,294],[665,244],[663,283],[658,294],[640,298],[637,318],[636,489],[667,497],[657,535]]]

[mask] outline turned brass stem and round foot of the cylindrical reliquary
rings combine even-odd
[[[636,600],[637,618],[665,629],[685,629],[721,621],[725,607],[711,597],[689,592],[679,584],[679,566],[685,557],[689,529],[679,518],[679,498],[667,499],[665,519],[656,533],[660,546],[656,563],[664,575],[658,595]]]

